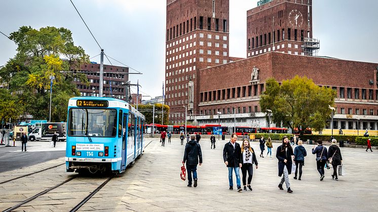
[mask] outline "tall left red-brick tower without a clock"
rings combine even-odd
[[[184,123],[184,107],[188,116],[199,113],[198,71],[229,58],[229,0],[167,0],[165,104],[171,123]]]

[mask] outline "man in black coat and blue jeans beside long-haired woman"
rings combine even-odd
[[[231,135],[231,141],[224,144],[223,148],[223,161],[226,166],[229,168],[229,183],[230,183],[230,190],[233,190],[233,179],[232,179],[232,171],[234,170],[236,175],[236,184],[238,186],[238,191],[242,191],[242,187],[240,184],[240,173],[239,169],[242,167],[243,162],[243,155],[240,145],[236,142],[238,140],[238,135],[233,133]]]

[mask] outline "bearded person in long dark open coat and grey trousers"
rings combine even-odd
[[[289,139],[286,136],[282,138],[282,145],[277,147],[276,157],[278,159],[278,176],[282,176],[278,188],[280,188],[280,190],[284,190],[282,185],[285,182],[287,193],[293,193],[293,191],[290,189],[289,175],[291,174],[294,153],[293,148],[289,144]]]

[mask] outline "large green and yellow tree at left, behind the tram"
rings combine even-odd
[[[61,71],[80,70],[89,62],[88,55],[74,45],[71,31],[65,28],[22,26],[10,38],[17,45],[17,54],[0,69],[0,82],[9,84],[12,96],[22,105],[14,117],[31,114],[34,119],[49,118],[50,76],[54,76],[51,121],[66,120],[68,99],[80,95],[73,79],[87,86],[89,82],[83,73]]]

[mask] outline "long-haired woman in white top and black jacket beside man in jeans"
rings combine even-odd
[[[251,181],[253,176],[253,167],[252,164],[254,163],[256,165],[256,169],[258,168],[258,163],[256,159],[256,154],[251,145],[249,144],[248,139],[244,139],[243,141],[243,147],[242,149],[242,156],[243,156],[243,165],[242,165],[242,180],[243,180],[243,186],[244,190],[247,190],[247,187],[250,191],[252,191],[251,187]],[[246,178],[247,178],[247,172],[248,172],[248,184],[246,186]]]

